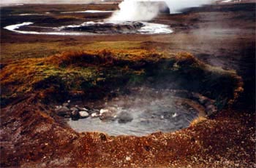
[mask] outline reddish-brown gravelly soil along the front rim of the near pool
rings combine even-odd
[[[3,167],[255,166],[255,115],[244,111],[146,137],[78,134],[45,111],[33,96],[1,111]]]

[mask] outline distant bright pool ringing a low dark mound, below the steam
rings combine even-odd
[[[137,33],[161,34],[173,33],[169,25],[148,22],[85,22],[80,25],[67,25],[59,27],[36,26],[31,22],[24,22],[4,27],[8,31],[23,34],[59,35],[59,36],[84,36],[109,33]]]

